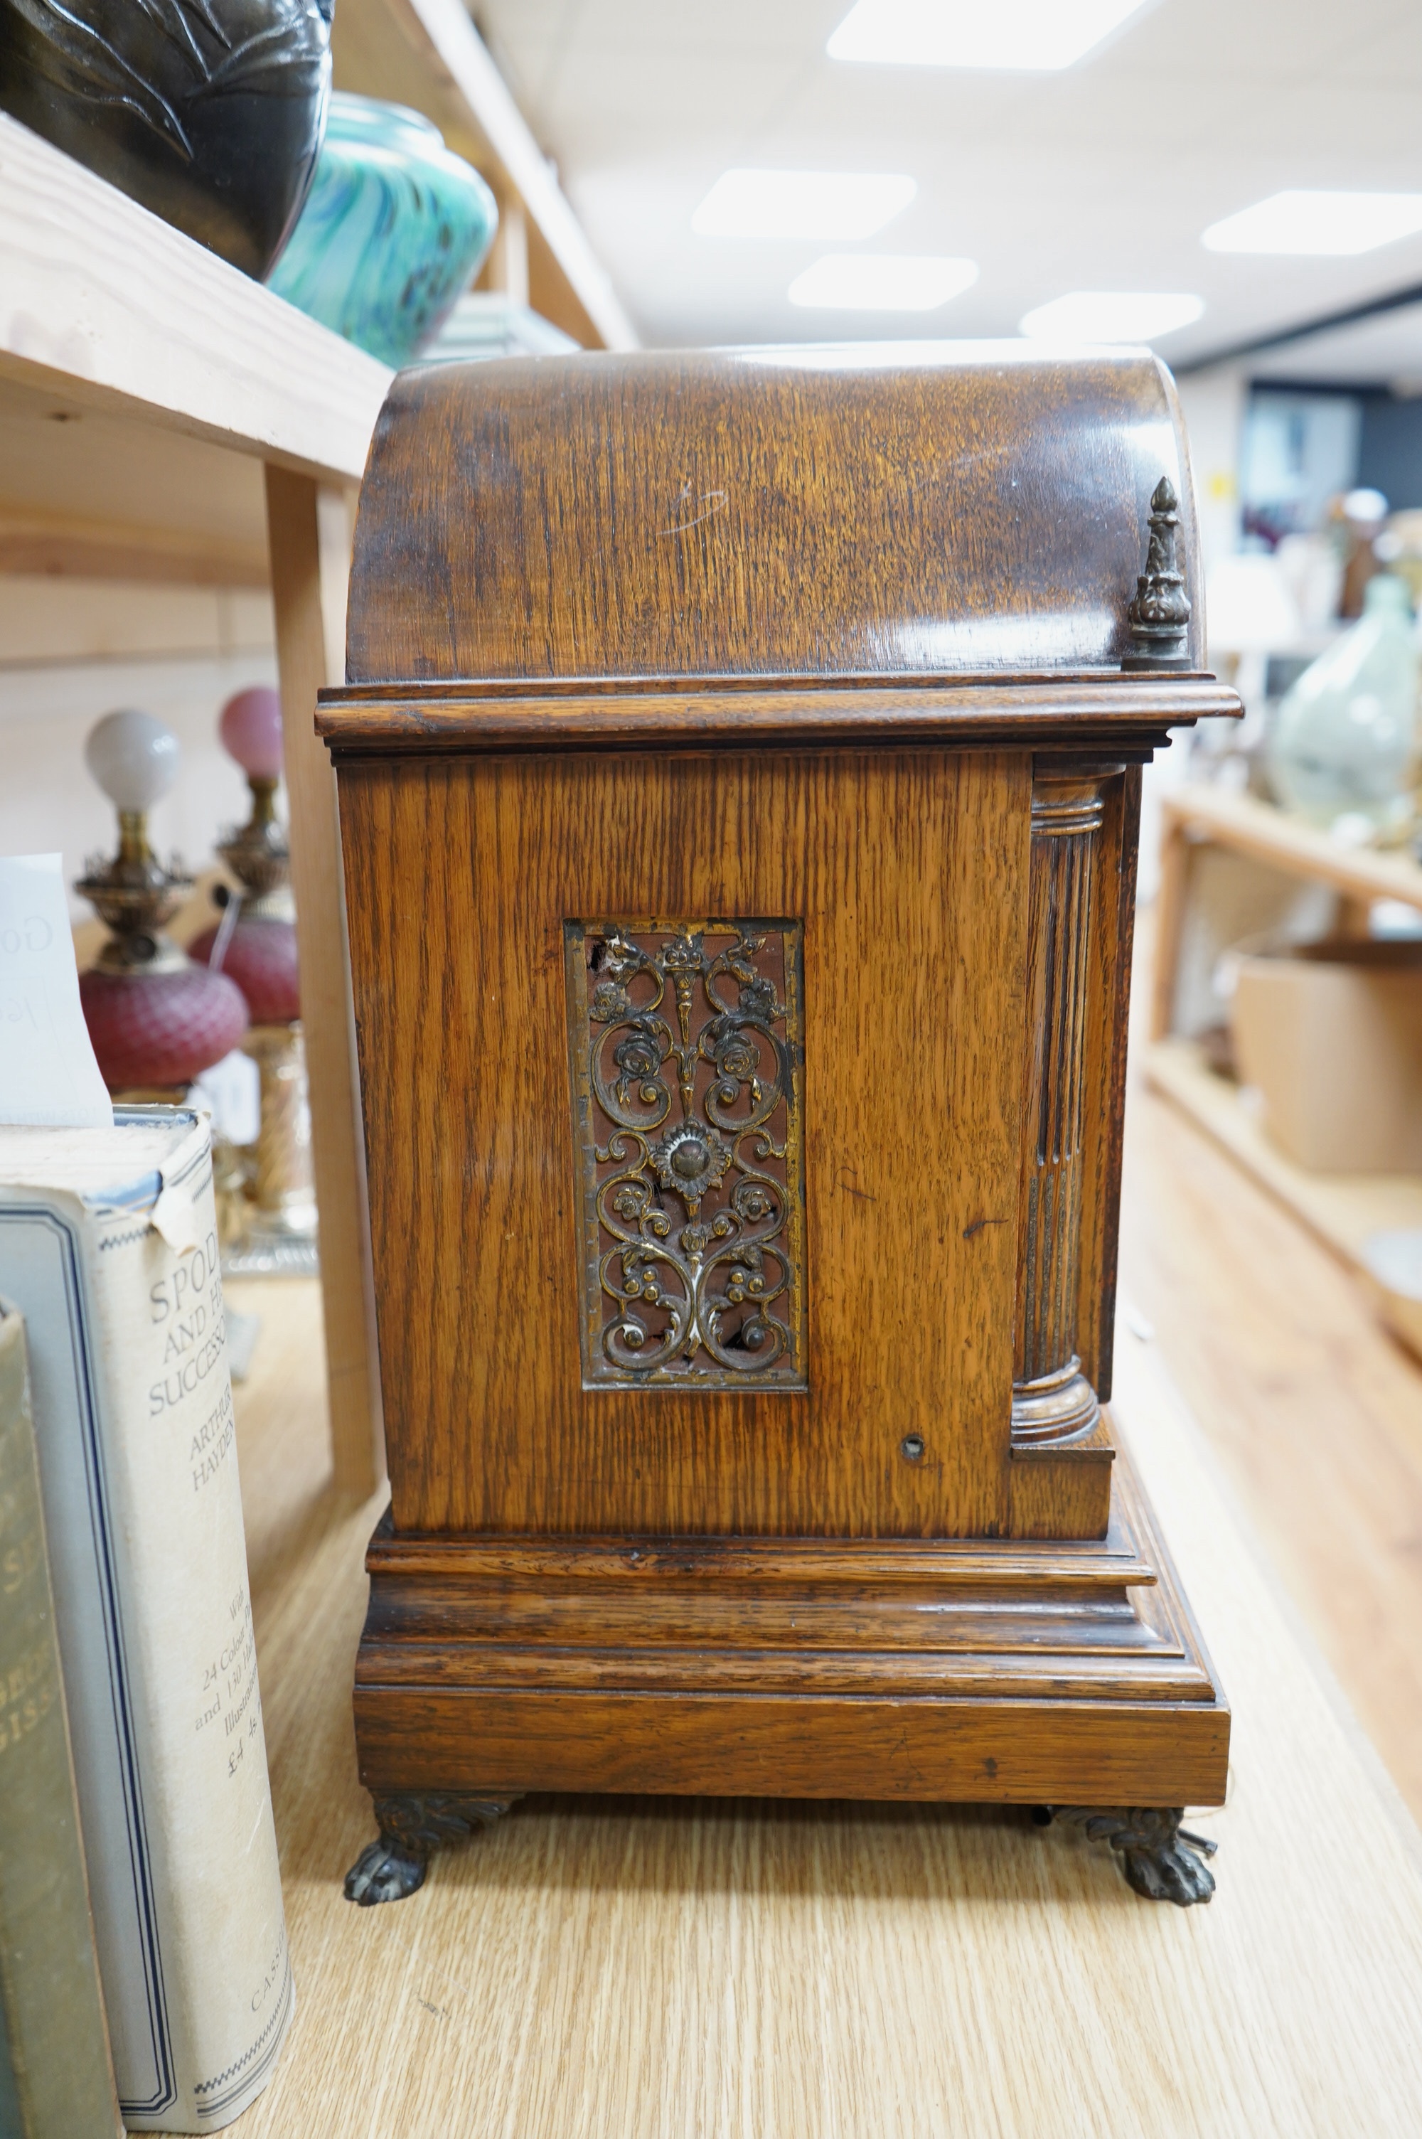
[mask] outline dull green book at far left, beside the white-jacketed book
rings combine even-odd
[[[26,1326],[0,1301],[0,2135],[122,2139],[41,1512]]]

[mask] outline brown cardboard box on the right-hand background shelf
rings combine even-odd
[[[1245,956],[1230,1016],[1264,1127],[1319,1174],[1422,1172],[1422,941]]]

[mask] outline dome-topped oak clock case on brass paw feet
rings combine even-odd
[[[404,372],[338,772],[391,1506],[353,1899],[530,1790],[1007,1801],[1206,1899],[1110,1418],[1140,768],[1234,714],[1148,355]]]

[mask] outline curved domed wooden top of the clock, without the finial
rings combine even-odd
[[[1155,357],[663,351],[402,372],[346,676],[1118,667],[1148,496],[1193,494]]]

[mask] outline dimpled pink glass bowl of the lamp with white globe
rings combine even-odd
[[[83,1020],[109,1091],[188,1087],[242,1040],[242,990],[201,965],[173,973],[79,975]]]

